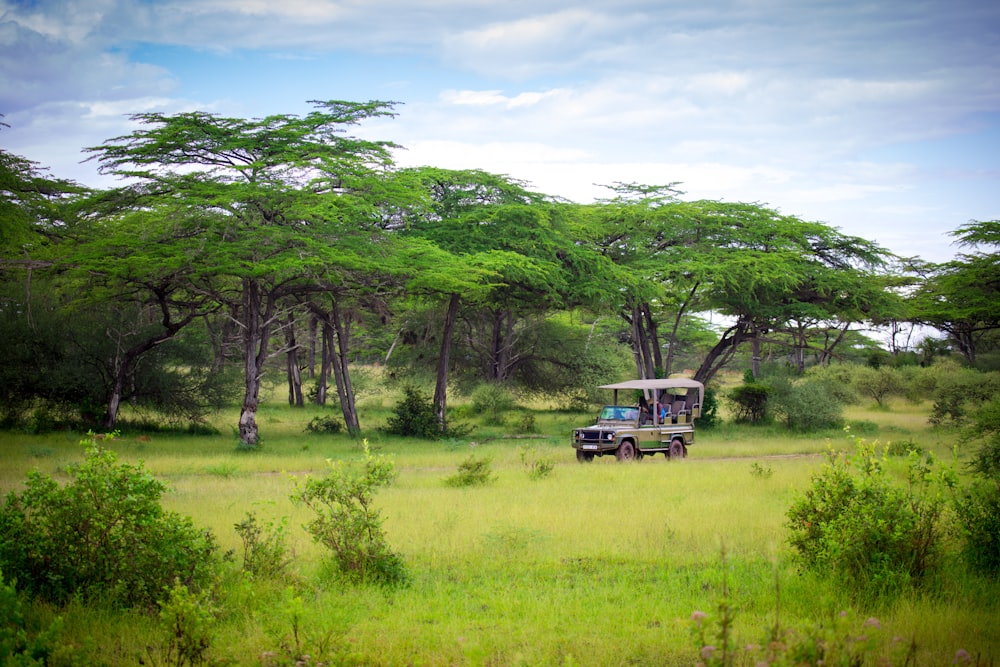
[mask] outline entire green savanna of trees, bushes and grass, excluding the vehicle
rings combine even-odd
[[[312,108],[135,114],[111,189],[0,150],[0,662],[1000,662],[1000,221],[935,264]],[[689,457],[577,462],[671,376]]]

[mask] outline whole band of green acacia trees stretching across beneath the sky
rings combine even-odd
[[[677,183],[615,183],[576,204],[481,170],[399,168],[391,142],[350,133],[394,106],[134,114],[134,131],[88,149],[122,178],[106,190],[0,151],[0,324],[23,352],[17,372],[65,367],[76,349],[90,350],[79,373],[101,378],[89,393],[69,376],[61,392],[11,382],[5,411],[97,402],[111,428],[123,401],[153,400],[141,377],[209,392],[238,359],[240,440],[253,447],[275,357],[293,404],[303,374],[320,403],[331,381],[352,433],[352,364],[423,360],[444,431],[456,371],[571,391],[616,372],[608,350],[624,346],[640,377],[690,368],[711,382],[740,354],[756,374],[763,346],[799,370],[827,362],[852,329],[890,321],[946,332],[972,362],[1000,328],[997,221],[954,230],[953,262],[904,274],[871,241],[757,203],[686,200]],[[43,320],[76,342],[30,341]]]

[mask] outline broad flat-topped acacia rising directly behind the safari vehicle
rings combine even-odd
[[[679,201],[674,184],[616,190],[598,216],[597,247],[631,274],[620,307],[640,377],[670,374],[680,325],[699,313],[728,321],[695,372],[708,382],[742,345],[754,346],[756,373],[768,333],[804,348],[806,330],[864,319],[883,293],[873,270],[886,253],[863,239],[757,204]]]

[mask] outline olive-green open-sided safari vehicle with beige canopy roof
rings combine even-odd
[[[601,409],[596,424],[573,430],[578,461],[609,454],[619,461],[657,452],[669,459],[687,456],[688,445],[694,444],[694,420],[701,416],[705,401],[705,385],[671,378],[629,380],[601,389],[611,389],[614,398]]]

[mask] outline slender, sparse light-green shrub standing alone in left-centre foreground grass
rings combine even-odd
[[[373,455],[367,440],[363,447],[360,469],[327,459],[326,476],[307,478],[292,500],[313,511],[306,530],[330,550],[334,565],[349,580],[405,583],[405,565],[389,548],[375,507],[375,492],[395,479],[394,466],[390,459]]]

